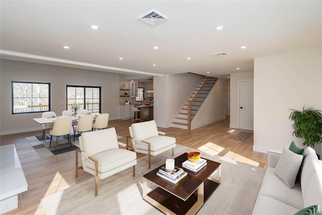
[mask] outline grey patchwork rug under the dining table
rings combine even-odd
[[[73,132],[70,133],[70,140],[71,140],[71,147],[70,147],[70,144],[68,144],[67,135],[60,136],[58,138],[57,150],[55,150],[56,137],[53,137],[53,140],[51,142],[51,147],[49,147],[50,146],[49,134],[47,134],[47,142],[43,140],[42,135],[29,136],[29,137],[26,137],[26,139],[41,158],[48,158],[58,154],[74,151],[75,149],[80,148],[78,137],[79,137],[79,134],[75,134],[75,141],[73,142],[73,138],[74,138]],[[117,138],[122,139],[124,137],[117,135]]]

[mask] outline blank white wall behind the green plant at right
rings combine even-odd
[[[322,51],[255,58],[254,62],[254,151],[282,151],[292,140],[289,109],[312,106],[322,110]],[[322,155],[321,145],[315,147]]]

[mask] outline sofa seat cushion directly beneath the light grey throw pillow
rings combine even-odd
[[[258,192],[259,195],[269,196],[285,204],[288,204],[297,210],[304,207],[303,197],[301,192],[301,185],[299,182],[295,183],[292,189],[274,174],[274,169],[268,167]]]

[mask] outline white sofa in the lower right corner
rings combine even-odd
[[[322,162],[312,148],[305,149],[301,180],[289,188],[274,174],[281,152],[268,153],[266,169],[252,214],[294,214],[319,205],[322,214]]]

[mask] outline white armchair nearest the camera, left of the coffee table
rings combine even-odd
[[[107,128],[82,133],[79,137],[81,149],[76,149],[75,164],[78,170],[95,175],[95,196],[98,195],[98,180],[107,178],[129,167],[133,167],[135,176],[136,153],[126,150],[127,145],[118,142],[115,128]],[[126,149],[119,149],[119,146]],[[78,152],[81,152],[83,166],[78,167]]]

